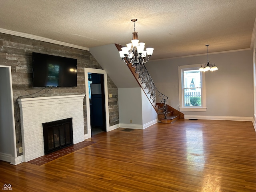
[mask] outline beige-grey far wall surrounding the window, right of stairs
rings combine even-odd
[[[250,117],[253,114],[252,50],[209,54],[218,67],[206,72],[206,112],[183,112],[194,116]],[[146,64],[167,104],[179,110],[178,66],[206,63],[207,55],[150,61]]]

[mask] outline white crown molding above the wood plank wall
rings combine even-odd
[[[44,42],[53,43],[53,44],[57,44],[57,45],[63,45],[63,46],[68,46],[68,47],[72,47],[72,48],[89,51],[89,48],[87,48],[87,47],[78,46],[78,45],[65,43],[65,42],[61,42],[61,41],[56,41],[53,39],[49,39],[49,38],[45,38],[45,37],[41,37],[41,36],[37,36],[37,35],[32,35],[32,34],[28,34],[28,33],[12,31],[12,30],[7,30],[7,29],[3,29],[3,28],[0,28],[0,33],[20,36],[20,37],[24,37],[24,38],[29,38],[29,39],[34,39],[34,40],[39,40],[39,41],[44,41]]]

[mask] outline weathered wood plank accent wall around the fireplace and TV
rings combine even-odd
[[[63,56],[77,59],[77,87],[66,88],[33,88],[32,87],[32,52]],[[22,146],[20,138],[20,128],[16,116],[16,99],[35,96],[64,96],[74,94],[85,94],[84,68],[102,69],[100,64],[90,54],[89,51],[71,48],[67,46],[32,40],[19,36],[0,33],[0,65],[11,66],[12,70],[12,89],[15,109],[15,128],[17,148]],[[41,91],[40,91],[41,90]],[[38,93],[36,93],[38,92]],[[36,94],[34,94],[36,93]],[[31,95],[30,95],[31,94]],[[110,126],[119,123],[118,115],[118,89],[108,77],[108,98],[109,104],[109,123]],[[19,116],[19,112],[18,112]],[[84,99],[84,131],[87,134],[86,101]],[[17,155],[20,156],[17,152]]]

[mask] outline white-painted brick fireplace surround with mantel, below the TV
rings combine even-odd
[[[19,99],[23,161],[44,155],[43,123],[72,118],[74,144],[84,141],[84,95]]]

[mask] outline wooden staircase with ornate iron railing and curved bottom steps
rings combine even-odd
[[[123,47],[119,44],[115,45],[118,51]],[[158,113],[159,122],[172,123],[178,119],[184,119],[183,113],[166,104],[168,97],[158,91],[143,62],[136,63],[136,65],[132,65],[132,63],[129,63],[127,60],[125,60],[125,62]],[[156,92],[158,92],[158,97],[161,99],[160,103],[156,103]]]

